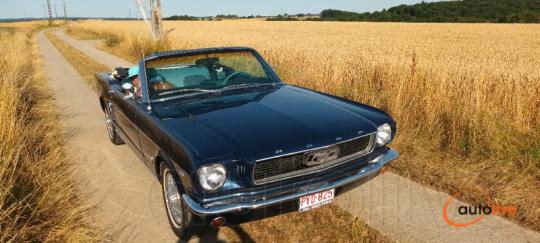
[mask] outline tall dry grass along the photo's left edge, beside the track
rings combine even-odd
[[[36,27],[0,29],[0,242],[96,242],[41,71]]]

